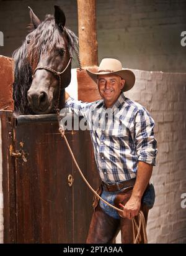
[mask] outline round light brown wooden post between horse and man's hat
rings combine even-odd
[[[98,65],[95,0],[78,0],[78,32],[82,67]]]

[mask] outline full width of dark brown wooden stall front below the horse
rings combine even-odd
[[[1,126],[4,242],[85,242],[93,195],[60,136],[56,115],[15,118],[1,111]],[[97,188],[89,131],[66,131],[66,137],[83,173]]]

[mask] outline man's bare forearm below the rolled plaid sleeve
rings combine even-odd
[[[140,199],[143,196],[143,193],[148,186],[149,180],[151,178],[153,171],[153,166],[151,164],[144,163],[142,161],[138,162],[138,171],[136,177],[136,183],[133,188],[131,197]]]

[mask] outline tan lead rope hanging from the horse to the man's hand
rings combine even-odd
[[[60,124],[60,110],[57,109],[57,116],[58,116],[58,125],[59,125],[59,131],[61,134],[61,137],[64,138],[64,141],[69,149],[69,153],[71,154],[74,164],[76,165],[76,167],[78,168],[79,174],[81,175],[82,179],[84,180],[84,182],[87,184],[87,186],[89,187],[89,189],[91,189],[91,191],[95,194],[95,196],[97,196],[100,200],[102,200],[105,204],[107,204],[108,206],[112,207],[113,209],[115,209],[118,212],[123,212],[121,209],[113,206],[112,204],[109,204],[107,201],[105,201],[104,199],[102,199],[102,197],[99,196],[99,194],[97,194],[97,192],[95,192],[95,190],[91,187],[91,185],[88,183],[87,179],[84,177],[84,175],[82,174],[81,169],[79,168],[79,165],[76,161],[76,158],[74,157],[73,151],[71,149],[71,147],[69,146],[68,140],[66,138],[66,136],[64,135],[64,128],[63,126]],[[143,240],[144,240],[144,244],[146,244],[148,242],[147,240],[147,235],[146,235],[146,224],[145,224],[145,220],[144,220],[144,215],[142,211],[139,211],[139,215],[138,215],[138,222],[139,224],[136,222],[135,218],[132,217],[132,227],[133,227],[133,243],[134,244],[138,244],[139,242],[141,242],[142,237],[141,237],[141,229],[142,229],[142,234],[143,234]],[[135,237],[136,234],[136,237]]]

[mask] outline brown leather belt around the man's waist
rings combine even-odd
[[[133,187],[135,185],[135,182],[136,182],[136,178],[127,179],[126,181],[122,181],[120,183],[113,183],[113,184],[104,183],[104,181],[102,181],[102,186],[105,191],[113,192],[113,191],[119,191],[120,189]]]

